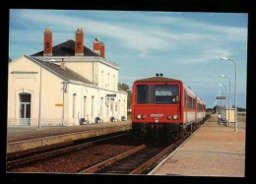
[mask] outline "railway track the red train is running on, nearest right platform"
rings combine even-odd
[[[80,173],[141,174],[162,159],[164,155],[172,152],[188,137],[189,135],[186,135],[175,144],[165,146],[140,145],[126,153],[120,153],[104,160]]]

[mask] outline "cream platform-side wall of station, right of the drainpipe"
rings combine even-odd
[[[116,94],[116,97],[107,97],[107,94]],[[73,105],[74,95],[76,100]],[[80,118],[85,118],[90,123],[95,123],[97,116],[104,122],[109,122],[111,116],[118,120],[122,116],[127,118],[126,93],[69,84],[68,96],[69,107],[65,108],[67,110],[67,112],[65,111],[65,124],[68,126],[79,125]],[[73,112],[75,112],[74,118]]]

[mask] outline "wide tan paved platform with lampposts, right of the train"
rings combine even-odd
[[[244,177],[245,118],[237,132],[217,120],[213,115],[149,175]]]

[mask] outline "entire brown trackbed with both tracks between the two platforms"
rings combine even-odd
[[[195,127],[196,128],[196,127]],[[192,129],[191,129],[192,130]],[[195,130],[193,130],[194,132]],[[192,132],[191,132],[192,133]],[[191,134],[170,145],[140,145],[129,132],[62,145],[48,151],[9,155],[7,170],[14,172],[147,174]]]

